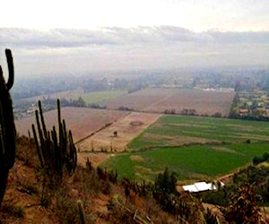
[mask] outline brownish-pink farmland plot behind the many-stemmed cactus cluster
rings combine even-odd
[[[123,111],[100,110],[91,108],[61,108],[62,118],[68,129],[74,136],[74,142],[85,138],[96,132],[101,127],[117,121],[118,118],[126,116]],[[48,128],[57,125],[57,111],[52,110],[44,113]],[[15,121],[16,129],[19,134],[28,136],[31,132],[31,124],[36,124],[35,116],[24,117]]]

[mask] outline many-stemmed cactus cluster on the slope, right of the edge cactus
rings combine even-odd
[[[77,162],[77,154],[72,133],[69,131],[67,134],[65,120],[61,120],[59,99],[57,99],[57,111],[58,135],[56,133],[55,126],[53,126],[51,131],[47,130],[40,101],[39,111],[36,110],[39,138],[35,125],[32,125],[34,140],[39,155],[40,167],[44,171],[44,181],[49,181],[50,186],[55,187],[62,181],[65,169],[68,171],[69,175],[71,175],[74,172]]]

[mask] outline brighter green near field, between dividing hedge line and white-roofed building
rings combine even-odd
[[[176,171],[178,180],[213,179],[245,166],[255,156],[269,151],[266,143],[229,145],[193,145],[167,147],[151,151],[118,154],[108,159],[103,167],[117,170],[119,177],[154,180],[165,167]]]

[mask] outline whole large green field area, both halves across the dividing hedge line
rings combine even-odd
[[[129,143],[128,152],[116,154],[102,166],[136,180],[153,180],[165,167],[176,171],[178,180],[210,180],[269,152],[267,141],[266,122],[161,116]]]

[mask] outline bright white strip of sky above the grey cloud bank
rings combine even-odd
[[[269,30],[267,0],[8,0],[1,9],[0,27]]]

